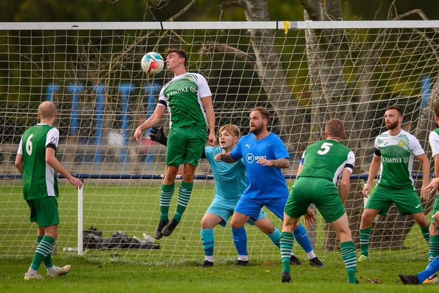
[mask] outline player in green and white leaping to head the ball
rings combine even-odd
[[[202,75],[186,71],[186,64],[185,51],[167,50],[166,67],[174,73],[174,78],[163,86],[152,116],[134,132],[134,139],[140,142],[143,130],[156,126],[165,115],[165,110],[168,110],[170,129],[166,148],[166,172],[160,194],[161,215],[154,231],[156,239],[171,235],[189,204],[195,168],[206,145],[206,128],[209,130],[208,143],[216,143],[211,90]],[[176,213],[169,221],[169,205],[174,194],[178,167],[182,164],[183,178],[178,189]]]

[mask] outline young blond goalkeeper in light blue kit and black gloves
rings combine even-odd
[[[163,128],[152,128],[150,137],[153,141],[158,141],[163,145],[167,144],[167,137],[163,132]],[[213,248],[215,245],[213,228],[218,224],[226,226],[228,219],[233,215],[233,211],[235,210],[239,198],[244,193],[244,189],[246,189],[246,167],[242,159],[232,164],[215,161],[214,159],[215,155],[218,153],[230,152],[233,150],[238,139],[239,128],[233,124],[226,124],[219,128],[218,131],[218,141],[220,146],[206,146],[204,148],[204,153],[202,154],[202,158],[206,158],[209,161],[213,172],[213,178],[215,179],[215,197],[201,220],[200,234],[205,254],[204,262],[202,263],[203,268],[213,266]],[[261,209],[259,213],[259,218],[255,221],[249,221],[249,224],[257,226],[259,230],[268,235],[270,240],[279,247],[281,232],[278,231],[278,228],[276,228],[272,222],[270,222],[263,209]],[[247,266],[249,261],[247,237],[244,226],[240,228],[240,231],[241,233],[239,233],[239,235],[241,238],[233,238],[238,252],[238,259],[235,265]],[[294,235],[298,239],[300,246],[305,250],[305,253],[307,253],[310,263],[315,266],[323,266],[313,252],[305,228],[302,225],[299,225],[298,228],[294,230]],[[290,255],[289,261],[292,265],[301,264],[300,260],[294,254]]]

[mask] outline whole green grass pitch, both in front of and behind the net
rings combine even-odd
[[[193,215],[188,215],[185,220],[199,222],[210,203],[211,198],[203,194],[212,194],[212,187],[204,185],[204,191],[195,191],[195,200],[191,202],[193,206],[200,206],[199,211]],[[1,235],[0,247],[0,292],[431,292],[436,285],[403,285],[399,281],[398,274],[415,273],[423,270],[427,264],[427,255],[425,247],[420,248],[419,254],[407,256],[403,251],[389,251],[388,253],[379,253],[376,257],[371,257],[369,261],[359,263],[357,267],[357,278],[359,284],[351,285],[346,281],[346,270],[338,251],[322,252],[317,250],[318,255],[324,255],[323,260],[326,268],[314,268],[309,266],[305,261],[305,256],[297,254],[302,259],[302,266],[292,266],[291,284],[280,282],[281,263],[280,253],[274,248],[252,248],[250,257],[251,265],[246,268],[232,266],[234,262],[233,244],[230,235],[226,232],[215,237],[224,237],[218,239],[228,243],[230,250],[224,252],[224,248],[215,250],[215,266],[213,268],[200,268],[199,265],[203,259],[203,251],[200,246],[199,231],[182,228],[179,233],[188,233],[191,239],[187,240],[193,243],[193,246],[186,246],[193,249],[191,255],[181,257],[180,254],[163,256],[163,252],[146,253],[130,257],[129,253],[110,251],[103,253],[86,253],[79,257],[75,253],[62,253],[61,246],[74,246],[74,237],[67,239],[67,231],[75,231],[75,191],[71,187],[62,185],[62,203],[61,217],[70,219],[60,227],[60,247],[59,253],[54,256],[54,263],[58,266],[64,266],[67,263],[72,265],[72,270],[63,277],[56,279],[24,281],[23,276],[29,267],[34,250],[34,226],[27,223],[27,207],[21,198],[20,186],[12,185],[1,187],[2,201],[9,202],[3,204],[0,208],[3,221],[0,222]],[[134,219],[150,217],[150,224],[145,224],[143,229],[150,231],[152,234],[156,224],[158,211],[143,213],[148,211],[152,206],[156,207],[158,184],[148,185],[145,187],[127,187],[119,186],[116,188],[103,188],[99,185],[86,185],[84,197],[94,196],[93,200],[85,200],[86,206],[91,211],[87,214],[87,219],[97,224],[121,224],[130,215]],[[121,196],[122,193],[122,196]],[[123,194],[124,193],[124,194]],[[202,193],[198,194],[197,193]],[[8,198],[8,195],[10,198]],[[130,195],[133,195],[130,198]],[[18,198],[17,198],[18,196]],[[16,202],[17,208],[13,207],[11,202]],[[110,203],[108,203],[110,202]],[[135,209],[141,205],[139,209]],[[117,217],[112,218],[112,223],[103,220],[103,213],[111,207],[122,207],[117,213]],[[132,215],[132,210],[134,214]],[[17,212],[19,211],[19,212]],[[23,217],[25,220],[23,220]],[[11,221],[12,218],[12,221]],[[5,224],[4,219],[9,219],[13,224]],[[99,222],[102,221],[102,222]],[[138,220],[137,220],[138,221]],[[66,222],[66,221],[64,221]],[[135,221],[128,223],[136,227]],[[279,222],[276,222],[279,226]],[[224,231],[228,229],[219,228]],[[189,230],[189,231],[186,231]],[[21,243],[30,243],[29,248],[23,248],[26,251],[20,254],[8,253],[5,250],[5,242],[12,241],[8,239],[8,231],[13,231],[14,242],[17,246]],[[70,232],[69,232],[70,233]],[[74,234],[74,233],[73,233]],[[20,236],[21,235],[21,236]],[[10,237],[10,235],[9,235]],[[264,242],[267,242],[264,235],[259,235]],[[169,237],[170,238],[170,237]],[[73,242],[72,242],[73,241]],[[179,247],[179,237],[169,239],[164,242],[166,245],[163,249],[169,250],[172,247]],[[252,239],[249,239],[251,244]],[[259,250],[264,250],[259,253]],[[267,251],[268,250],[268,251]],[[265,254],[266,253],[266,254]],[[233,255],[233,257],[230,257]],[[40,273],[45,275],[45,269],[40,267]],[[439,285],[439,284],[438,284]]]

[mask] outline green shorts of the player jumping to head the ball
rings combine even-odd
[[[166,165],[189,163],[197,166],[206,146],[204,126],[186,126],[169,129],[166,146]]]

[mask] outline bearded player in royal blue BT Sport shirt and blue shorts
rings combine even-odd
[[[267,109],[254,108],[250,113],[250,132],[252,133],[239,139],[236,147],[233,150],[230,148],[229,152],[223,152],[218,148],[215,151],[216,154],[212,153],[214,161],[209,159],[211,165],[228,166],[229,164],[225,165],[224,162],[226,162],[235,163],[235,165],[243,164],[246,168],[246,189],[237,201],[230,222],[238,254],[240,251],[246,251],[246,241],[237,241],[237,239],[246,239],[244,224],[248,220],[258,220],[263,206],[270,209],[278,218],[283,219],[283,207],[288,197],[288,187],[281,168],[289,165],[289,154],[281,139],[267,130],[269,118],[270,113]],[[309,211],[309,213],[312,212]],[[269,235],[269,237],[278,246],[280,237],[278,229],[274,233],[276,234]],[[305,228],[298,224],[294,235],[300,246],[307,252],[311,266],[323,267],[324,264],[313,253]],[[288,259],[294,263],[296,257],[290,252]],[[235,265],[248,266],[248,259],[246,256],[239,255]]]

